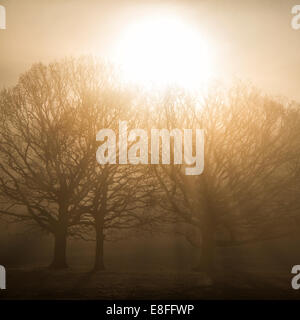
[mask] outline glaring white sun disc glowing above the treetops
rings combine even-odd
[[[178,17],[151,16],[124,30],[115,60],[126,81],[194,89],[212,75],[210,49],[201,34]]]

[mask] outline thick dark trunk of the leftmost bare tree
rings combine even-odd
[[[61,228],[54,234],[54,256],[50,265],[53,269],[67,268],[66,261],[67,231]]]

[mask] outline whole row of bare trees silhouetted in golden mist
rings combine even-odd
[[[98,164],[96,134],[117,132],[120,120],[149,132],[203,129],[203,173],[187,176],[174,161]],[[174,225],[199,248],[195,269],[209,273],[219,246],[297,232],[296,102],[243,84],[202,94],[143,91],[122,83],[114,66],[83,57],[34,64],[1,91],[0,123],[1,217],[51,234],[53,268],[67,267],[72,237],[95,240],[99,270],[106,240]]]

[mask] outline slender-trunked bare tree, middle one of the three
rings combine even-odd
[[[125,89],[125,99],[116,99],[120,90],[108,97],[108,109],[103,108],[103,99],[94,101],[93,107],[86,110],[85,117],[90,127],[94,128],[92,140],[95,150],[100,145],[96,134],[101,129],[114,130],[120,136],[119,123],[126,121],[127,130],[136,128],[141,123],[142,109],[139,105],[139,94],[130,94]],[[116,103],[115,108],[112,101]],[[127,134],[123,139],[127,140]],[[128,142],[128,148],[135,142]],[[127,148],[127,149],[128,149]],[[128,150],[126,150],[127,153]],[[84,199],[77,227],[77,234],[87,237],[92,230],[95,234],[94,270],[104,269],[104,242],[120,240],[135,235],[138,231],[153,230],[159,222],[160,212],[155,212],[155,192],[157,186],[151,168],[142,164],[119,163],[119,138],[116,139],[115,164],[100,165],[94,159],[95,170],[89,178],[90,189]],[[90,239],[90,238],[88,238]]]

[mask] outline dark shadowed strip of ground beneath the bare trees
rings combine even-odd
[[[1,299],[299,299],[290,274],[7,269]]]

